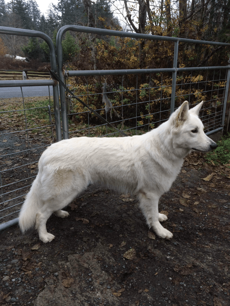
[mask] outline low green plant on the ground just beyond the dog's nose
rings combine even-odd
[[[218,147],[205,155],[205,158],[209,162],[214,162],[215,165],[230,163],[230,133],[227,136],[222,137],[217,142]]]

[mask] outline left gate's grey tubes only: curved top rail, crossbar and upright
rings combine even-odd
[[[8,35],[20,35],[29,37],[40,37],[48,44],[50,50],[50,64],[51,69],[57,72],[56,64],[56,52],[52,39],[43,32],[18,29],[18,28],[8,28],[0,27],[0,34]],[[57,141],[62,140],[61,132],[61,119],[60,119],[60,106],[59,106],[59,92],[58,84],[54,80],[3,80],[0,81],[0,87],[21,87],[21,86],[53,86],[53,100],[54,100],[54,116],[55,116],[55,126],[56,126],[56,136]]]

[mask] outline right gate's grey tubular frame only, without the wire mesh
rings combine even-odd
[[[121,37],[130,37],[135,39],[152,39],[152,40],[164,40],[174,42],[174,61],[173,68],[163,68],[163,69],[128,69],[128,70],[82,70],[82,71],[68,71],[68,76],[96,76],[96,75],[112,75],[112,74],[139,74],[139,73],[160,73],[160,72],[172,72],[172,93],[171,93],[171,113],[174,112],[175,108],[175,93],[176,93],[176,77],[177,71],[201,71],[201,70],[214,70],[214,69],[228,69],[227,82],[225,87],[225,96],[224,96],[224,105],[223,105],[223,115],[221,127],[213,131],[209,131],[206,134],[220,131],[224,127],[224,116],[227,105],[228,98],[228,87],[230,81],[230,65],[226,66],[215,66],[215,67],[185,67],[178,68],[178,47],[179,42],[183,43],[193,43],[193,44],[206,44],[206,45],[216,45],[216,46],[227,46],[230,47],[229,43],[219,43],[205,40],[195,40],[195,39],[185,39],[177,37],[168,37],[168,36],[157,36],[157,35],[148,35],[148,34],[138,34],[131,32],[122,32],[114,30],[105,30],[99,28],[89,28],[82,27],[78,25],[65,25],[59,29],[56,37],[56,53],[57,53],[57,65],[58,65],[58,75],[60,79],[64,82],[63,75],[63,54],[62,54],[62,36],[67,31],[83,32],[83,33],[92,33],[100,35],[110,35],[110,36],[121,36]],[[229,58],[230,61],[230,58]],[[62,113],[62,128],[63,128],[63,139],[68,139],[68,118],[67,118],[67,105],[65,98],[65,89],[60,86],[60,102],[61,102],[61,113]]]

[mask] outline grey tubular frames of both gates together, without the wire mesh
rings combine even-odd
[[[177,60],[178,60],[178,46],[179,42],[184,43],[193,43],[193,44],[207,44],[207,45],[217,45],[217,46],[227,46],[230,47],[228,43],[218,43],[218,42],[210,42],[210,41],[201,41],[194,39],[182,39],[176,37],[167,37],[167,36],[156,36],[156,35],[147,35],[147,34],[137,34],[130,32],[121,32],[121,31],[113,31],[113,30],[105,30],[98,28],[88,28],[82,26],[75,25],[66,25],[59,29],[56,38],[56,53],[55,47],[52,40],[48,37],[48,35],[32,30],[26,29],[18,29],[18,28],[8,28],[8,27],[0,27],[0,34],[8,34],[8,35],[21,35],[21,36],[29,36],[29,37],[40,37],[46,41],[50,49],[50,58],[51,58],[51,69],[56,73],[57,65],[58,65],[58,74],[62,81],[64,81],[63,74],[63,58],[62,58],[62,45],[61,40],[62,36],[66,31],[75,31],[75,32],[84,32],[84,33],[93,33],[93,34],[101,34],[101,35],[110,35],[110,36],[120,36],[120,37],[130,37],[135,39],[152,39],[152,40],[164,40],[174,42],[174,62],[172,68],[167,69],[128,69],[128,70],[93,70],[93,71],[68,71],[69,76],[96,76],[96,75],[113,75],[113,74],[141,74],[141,73],[163,73],[163,72],[171,72],[172,73],[172,93],[171,93],[171,113],[174,111],[175,106],[175,92],[176,92],[176,77],[177,72],[180,71],[201,71],[201,70],[214,70],[214,69],[227,69],[227,80],[224,94],[224,104],[223,104],[223,114],[221,127],[218,129],[214,129],[209,131],[208,134],[217,132],[223,129],[224,126],[224,115],[226,111],[227,98],[228,98],[228,87],[230,81],[230,65],[226,66],[215,66],[215,67],[186,67],[186,68],[177,68]],[[57,65],[56,65],[56,54],[57,54]],[[230,61],[230,58],[229,58]],[[54,80],[3,80],[0,81],[0,87],[21,87],[21,86],[44,86],[44,85],[52,85],[53,86],[53,98],[54,98],[54,115],[55,115],[55,125],[56,125],[56,136],[57,141],[62,139],[62,131],[61,131],[61,120],[60,120],[60,107],[59,107],[59,92],[58,92],[58,84]],[[60,101],[61,101],[61,113],[62,113],[62,129],[63,129],[63,139],[68,139],[68,117],[67,117],[67,105],[65,98],[65,89],[62,86],[59,86],[60,91]],[[0,230],[6,229],[10,226],[17,224],[18,218],[13,219],[9,222],[5,222],[0,225]]]

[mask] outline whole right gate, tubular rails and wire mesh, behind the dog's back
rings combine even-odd
[[[63,34],[66,31],[75,31],[82,33],[91,33],[95,35],[108,36],[120,36],[129,37],[133,39],[149,39],[156,41],[170,41],[174,43],[174,58],[173,67],[165,69],[129,69],[129,70],[84,70],[84,71],[65,71],[63,74],[63,56],[61,40]],[[115,105],[113,108],[121,114],[120,118],[116,115],[111,120],[112,124],[119,124],[120,128],[128,132],[128,135],[137,134],[138,130],[148,130],[152,127],[157,127],[164,120],[167,120],[170,113],[175,108],[179,107],[184,100],[188,100],[190,104],[201,102],[200,95],[206,95],[208,99],[205,100],[204,108],[201,113],[201,120],[205,123],[205,132],[207,135],[220,131],[224,126],[224,116],[226,111],[226,104],[228,98],[228,86],[230,80],[230,66],[226,63],[226,66],[215,67],[184,67],[178,68],[178,48],[179,43],[194,44],[206,44],[230,47],[228,43],[218,43],[210,41],[201,41],[194,39],[183,39],[176,37],[156,36],[147,34],[137,34],[130,32],[121,32],[113,30],[105,30],[98,28],[88,28],[76,25],[66,25],[59,29],[56,38],[56,52],[57,52],[57,65],[58,74],[62,81],[67,81],[68,78],[84,77],[85,84],[87,86],[87,93],[84,95],[78,95],[80,99],[83,99],[88,105],[93,105],[95,100],[102,101],[103,92],[90,92],[88,78],[94,76],[95,79],[100,77],[101,82],[107,82],[107,79],[111,75],[117,75],[117,83],[119,86],[113,86],[107,82],[106,95],[110,101],[116,101],[117,96],[120,98],[120,105]],[[197,75],[198,73],[198,75]],[[201,74],[202,73],[202,74]],[[146,76],[145,87],[140,88],[141,75]],[[164,76],[171,76],[171,84],[165,84]],[[132,84],[130,88],[124,88],[123,83],[125,78],[128,80],[129,76],[132,76]],[[128,80],[129,81],[129,80]],[[127,81],[127,83],[128,83]],[[224,84],[224,85],[223,85]],[[109,85],[109,86],[108,86]],[[188,93],[184,94],[183,91],[187,89]],[[196,95],[194,95],[194,88],[196,89]],[[202,89],[201,89],[202,88]],[[63,139],[68,139],[72,136],[94,136],[95,129],[100,127],[101,136],[112,136],[118,132],[108,131],[107,125],[103,122],[100,125],[95,124],[95,120],[92,120],[90,111],[82,109],[82,111],[76,112],[79,107],[74,107],[73,103],[70,103],[66,99],[65,89],[60,86],[60,100],[61,100],[61,114],[62,114],[62,128]],[[157,92],[157,99],[152,98],[151,91]],[[77,94],[76,94],[77,95]],[[130,99],[127,99],[127,96]],[[145,101],[140,99],[140,96],[145,96]],[[196,99],[194,99],[194,97]],[[128,101],[127,101],[128,100]],[[151,108],[152,104],[157,104],[157,110]],[[210,113],[212,109],[212,114]],[[107,118],[107,113],[101,103],[101,107],[95,109],[101,115],[104,114],[104,118]],[[128,110],[128,111],[127,111]],[[74,127],[74,123],[71,123],[74,116],[82,116],[86,118],[85,125],[77,125]],[[125,117],[126,116],[126,117]],[[109,116],[108,116],[109,117]],[[69,124],[70,123],[70,124]],[[92,124],[93,123],[93,124]],[[131,126],[132,125],[132,126]],[[140,131],[139,131],[140,132]]]

